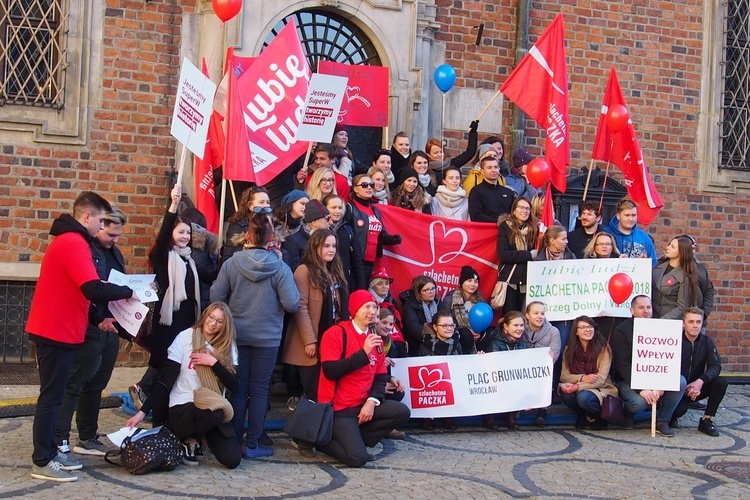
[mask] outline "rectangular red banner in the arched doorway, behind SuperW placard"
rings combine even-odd
[[[349,78],[338,123],[363,127],[388,126],[388,68],[320,61],[318,73]]]

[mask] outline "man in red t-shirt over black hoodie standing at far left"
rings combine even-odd
[[[39,398],[34,412],[34,452],[31,477],[68,482],[78,479],[68,471],[81,463],[58,452],[55,422],[76,348],[84,341],[92,300],[108,302],[135,298],[133,290],[99,279],[91,243],[102,228],[110,204],[96,193],[84,191],[73,203],[73,215],[63,214],[52,223],[55,238],[47,247],[31,299],[26,323],[36,343]]]

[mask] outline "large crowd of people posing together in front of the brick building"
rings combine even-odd
[[[576,427],[606,427],[603,399],[619,396],[622,427],[632,428],[634,414],[657,404],[657,430],[672,436],[688,407],[708,398],[699,430],[717,436],[712,417],[727,384],[706,333],[714,290],[695,256],[695,240],[673,238],[659,259],[627,198],[606,227],[601,206],[583,202],[573,231],[556,223],[540,235],[540,194],[525,177],[532,156],[515,152],[511,168],[499,137],[477,142],[473,122],[466,151],[446,159],[440,141],[412,152],[399,132],[391,149],[377,151],[366,165],[353,157],[339,128],[331,144],[315,146],[310,165],[287,172],[288,189],[252,186],[242,193],[220,251],[200,212],[178,214],[182,187],[175,185],[148,252],[158,301],[143,329],[149,366],[130,388],[138,412],[128,426],[150,413],[154,425],[179,437],[187,465],[198,464],[205,446],[230,469],[241,458],[271,456],[264,420],[274,367],[283,363],[290,410],[303,396],[334,409],[330,444],[294,440],[293,446],[305,457],[325,453],[359,467],[370,459],[368,446],[404,436],[410,418],[400,402],[404,384],[390,375],[399,358],[549,348],[554,399],[576,413]],[[408,235],[388,232],[379,210],[387,204],[497,227],[497,279],[508,289],[496,326],[471,327],[471,309],[488,298],[470,265],[444,297],[424,275],[413,276],[407,290],[391,290],[393,279],[379,258],[384,247],[397,251]],[[91,192],[79,196],[72,216],[53,223],[56,237],[27,324],[41,379],[35,478],[73,481],[70,471],[81,468],[75,454],[108,449],[97,434],[98,398],[114,367],[118,334],[128,334],[107,303],[137,299],[128,287],[106,282],[110,270],[125,271],[116,245],[124,224],[121,211]],[[652,294],[631,300],[632,317],[683,320],[679,391],[630,387],[632,319],[550,322],[545,304],[527,303],[529,262],[614,257],[653,260]],[[70,320],[52,322],[63,308]],[[74,411],[78,442],[71,453]],[[544,427],[547,409],[533,411],[535,424]],[[484,415],[483,423],[494,430],[500,419],[515,429],[517,418]],[[452,419],[422,419],[421,425],[455,429]]]

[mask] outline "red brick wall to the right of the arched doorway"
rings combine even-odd
[[[499,88],[514,67],[515,2],[438,0],[436,38],[457,86]],[[648,228],[659,255],[669,240],[689,233],[716,286],[709,331],[725,368],[750,371],[750,264],[747,197],[698,190],[697,117],[700,106],[703,2],[532,2],[531,43],[554,19],[565,16],[570,96],[571,167],[587,166],[606,87],[615,66],[644,157],[665,206]],[[485,23],[481,47],[475,26]],[[512,103],[506,100],[503,137],[510,140]],[[464,147],[463,134],[446,133],[448,153]],[[482,139],[482,137],[480,137]],[[543,152],[544,134],[526,121],[526,145]],[[506,151],[508,158],[512,151]],[[604,163],[598,163],[602,168]],[[618,172],[615,178],[621,179]]]

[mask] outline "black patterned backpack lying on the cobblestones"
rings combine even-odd
[[[120,463],[111,458],[120,456]],[[107,463],[121,465],[133,475],[153,471],[170,471],[182,463],[182,443],[164,426],[151,430],[137,429],[126,437],[119,450],[108,451]]]

